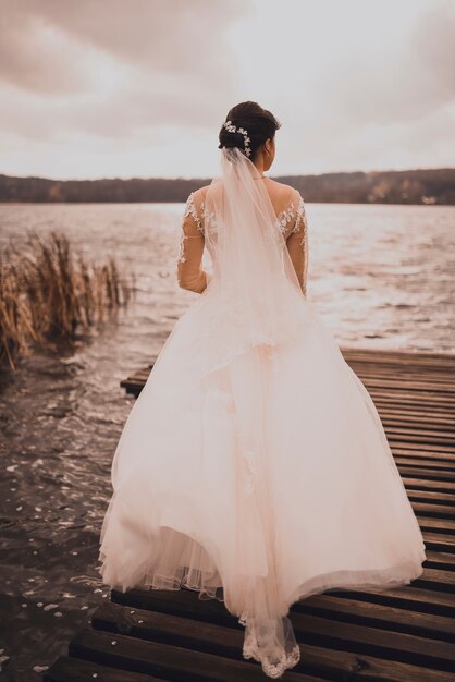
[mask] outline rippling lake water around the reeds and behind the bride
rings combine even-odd
[[[197,294],[175,280],[182,204],[3,205],[0,246],[58,228],[134,270],[136,300],[72,352],[0,373],[1,679],[40,680],[108,589],[96,571],[110,465],[151,363]],[[341,345],[454,352],[455,207],[308,205],[308,295]],[[35,668],[35,671],[34,671]]]

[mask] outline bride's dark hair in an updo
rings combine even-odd
[[[229,110],[226,121],[231,121],[233,125],[244,127],[248,132],[250,139],[248,146],[251,149],[251,161],[266,139],[271,139],[278,129],[281,127],[280,121],[275,119],[273,113],[267,109],[262,109],[257,101],[243,101],[236,105]],[[231,133],[229,130],[221,126],[218,138],[220,141],[218,145],[219,149],[222,147],[238,147],[242,151],[245,150],[245,138],[242,133]]]

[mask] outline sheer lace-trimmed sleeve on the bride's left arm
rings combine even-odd
[[[197,192],[192,192],[186,200],[181,226],[177,281],[182,289],[196,293],[202,293],[208,283],[207,275],[201,269],[205,238],[200,215],[200,198]]]

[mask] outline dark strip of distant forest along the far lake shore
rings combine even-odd
[[[274,180],[298,190],[306,202],[455,205],[455,168],[282,175]],[[185,202],[190,192],[210,181],[210,178],[48,180],[0,175],[0,202]]]

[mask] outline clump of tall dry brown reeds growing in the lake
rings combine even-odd
[[[130,278],[112,256],[88,263],[61,232],[28,231],[23,248],[10,244],[0,253],[0,364],[15,368],[30,341],[56,349],[112,319],[135,291]]]

